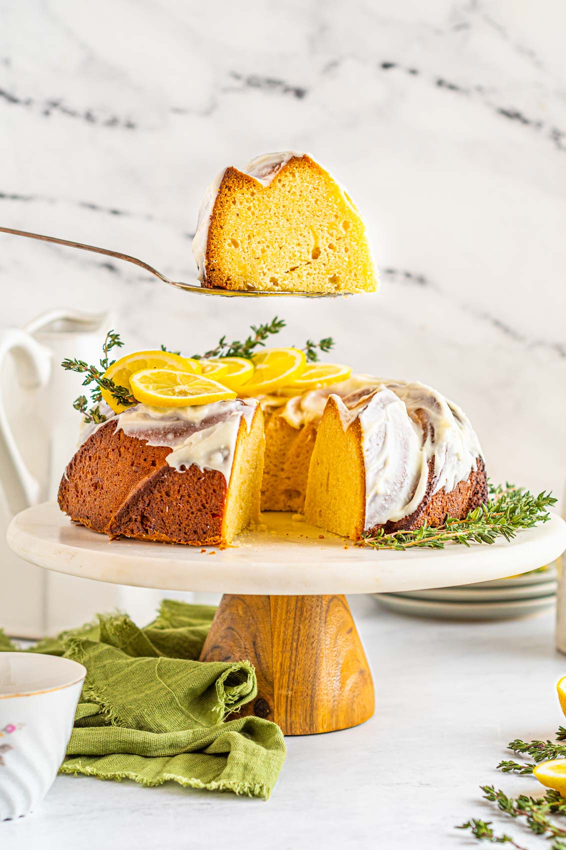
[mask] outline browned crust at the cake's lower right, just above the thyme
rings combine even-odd
[[[444,523],[448,516],[454,519],[464,519],[469,511],[473,511],[475,507],[488,501],[487,477],[482,457],[476,458],[476,466],[477,468],[472,470],[467,479],[456,484],[456,487],[454,490],[450,490],[450,493],[446,493],[443,487],[442,490],[431,496],[434,483],[434,460],[431,459],[428,462],[427,491],[416,511],[403,519],[399,519],[398,522],[375,525],[368,530],[367,534],[375,534],[378,529],[383,529],[387,533],[390,531],[414,531],[421,528],[425,521],[429,525],[438,527]]]

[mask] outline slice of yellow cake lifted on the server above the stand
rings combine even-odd
[[[193,252],[203,286],[375,292],[365,225],[342,185],[307,154],[228,167],[201,204]]]

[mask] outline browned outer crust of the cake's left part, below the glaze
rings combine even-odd
[[[110,537],[219,545],[226,480],[191,466],[178,473],[167,446],[116,431],[110,420],[77,450],[59,485],[59,507]]]

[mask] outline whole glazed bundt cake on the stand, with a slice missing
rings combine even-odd
[[[227,545],[258,522],[260,493],[263,511],[304,512],[353,540],[463,519],[487,501],[467,416],[418,382],[354,375],[261,405],[107,412],[85,428],[59,505],[110,537]]]

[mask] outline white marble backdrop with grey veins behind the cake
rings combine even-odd
[[[0,326],[116,309],[191,354],[279,313],[356,369],[438,386],[493,479],[566,477],[566,80],[559,0],[0,0],[0,224],[194,280],[220,167],[311,151],[365,212],[376,297],[190,297],[125,263],[0,235]],[[70,354],[73,354],[70,352]]]

